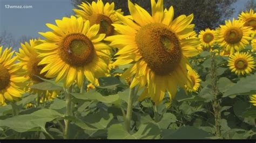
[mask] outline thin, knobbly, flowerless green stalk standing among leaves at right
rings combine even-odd
[[[221,121],[221,97],[220,92],[217,87],[217,64],[215,61],[215,52],[212,52],[212,63],[211,63],[211,78],[212,78],[212,89],[213,89],[213,103],[212,108],[214,111],[214,117],[215,117],[215,127],[216,127],[216,137],[221,137],[221,131],[220,131],[220,121]]]

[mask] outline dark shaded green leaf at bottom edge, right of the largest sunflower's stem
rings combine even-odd
[[[170,130],[173,132],[173,130]],[[212,137],[212,134],[207,133],[199,128],[192,126],[180,127],[176,132],[170,133],[164,139],[206,139]]]

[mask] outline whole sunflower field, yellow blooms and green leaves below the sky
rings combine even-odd
[[[256,13],[197,33],[163,3],[81,3],[0,46],[0,138],[256,139]]]

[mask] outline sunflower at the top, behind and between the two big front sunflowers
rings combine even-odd
[[[114,3],[104,3],[102,0],[97,2],[82,3],[78,5],[78,9],[73,9],[77,17],[83,17],[84,21],[89,20],[90,25],[99,24],[99,33],[105,33],[106,36],[114,34],[114,27],[111,24],[119,23],[119,20],[116,17],[116,12],[123,14],[121,9],[114,10]]]

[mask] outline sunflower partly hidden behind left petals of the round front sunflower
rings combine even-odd
[[[21,44],[21,48],[19,48],[19,53],[16,52],[16,55],[18,56],[17,63],[19,66],[21,66],[24,71],[23,76],[29,80],[28,87],[30,87],[33,84],[37,84],[40,82],[43,82],[41,78],[45,78],[45,73],[41,73],[41,70],[44,68],[44,65],[38,66],[38,63],[41,61],[37,58],[38,53],[35,51],[34,47],[42,44],[41,41],[38,41],[36,39],[31,39],[28,42],[25,42],[25,44]],[[41,78],[39,78],[41,77]],[[27,89],[32,94],[38,94],[46,95],[47,99],[52,100],[53,97],[57,96],[57,92],[59,91],[45,91],[45,90],[39,90],[39,89]],[[45,98],[45,99],[46,99]]]

